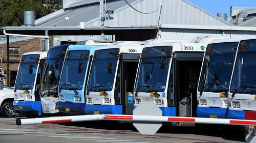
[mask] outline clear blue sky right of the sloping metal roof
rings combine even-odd
[[[217,15],[217,13],[227,13],[230,15],[230,6],[233,7],[255,7],[256,0],[188,0],[200,8]]]

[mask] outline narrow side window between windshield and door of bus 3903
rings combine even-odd
[[[169,81],[168,81],[168,88],[167,88],[167,105],[175,106],[174,100],[174,60],[172,60],[172,66],[170,67],[169,73]]]

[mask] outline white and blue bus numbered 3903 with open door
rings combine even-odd
[[[133,91],[134,108],[151,101],[163,116],[196,116],[197,83],[207,43],[195,42],[152,42],[143,48]]]

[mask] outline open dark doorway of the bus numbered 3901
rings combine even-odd
[[[121,64],[121,95],[123,114],[133,114],[133,88],[140,54],[123,54]]]

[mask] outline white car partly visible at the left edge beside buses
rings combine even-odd
[[[15,109],[12,106],[14,89],[0,84],[0,116],[14,117]]]

